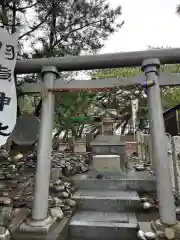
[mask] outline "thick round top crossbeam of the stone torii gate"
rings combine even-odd
[[[160,60],[161,64],[180,63],[180,48],[89,56],[17,60],[15,73],[38,73],[43,66],[54,66],[59,71],[135,67],[141,66],[143,60],[148,58],[157,58]]]

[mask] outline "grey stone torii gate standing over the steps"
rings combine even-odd
[[[54,93],[59,91],[102,91],[118,86],[142,85],[147,88],[152,155],[155,162],[159,200],[159,227],[179,232],[173,188],[166,151],[165,129],[160,98],[161,86],[180,85],[180,78],[160,72],[162,64],[180,63],[180,49],[140,51],[96,56],[72,56],[51,59],[18,60],[16,74],[40,73],[40,83],[24,84],[24,93],[42,94],[41,126],[32,218],[21,226],[23,231],[48,231],[54,221],[48,216],[48,195],[52,148]],[[132,78],[63,82],[59,71],[77,71],[141,66],[143,74]]]

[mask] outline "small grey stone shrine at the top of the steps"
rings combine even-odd
[[[97,172],[123,173],[125,171],[125,143],[114,134],[112,117],[102,120],[102,134],[91,142],[93,167]]]

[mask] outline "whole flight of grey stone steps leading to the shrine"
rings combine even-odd
[[[73,199],[78,208],[69,224],[68,240],[137,239],[137,217],[142,214],[138,192],[155,191],[154,179],[87,178],[75,183],[78,191]]]

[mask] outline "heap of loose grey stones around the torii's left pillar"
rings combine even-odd
[[[70,177],[88,171],[89,154],[52,153],[49,212],[57,219],[76,208],[71,199],[76,188]],[[31,214],[35,189],[37,154],[0,153],[0,226],[11,233]]]

